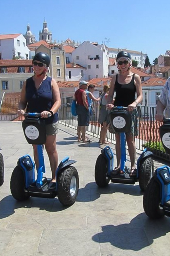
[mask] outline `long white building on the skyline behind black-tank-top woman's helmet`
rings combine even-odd
[[[147,54],[142,53],[142,52],[138,52],[138,51],[131,51],[131,50],[127,50],[127,49],[120,49],[120,48],[108,48],[109,51],[109,57],[110,58],[116,58],[117,53],[119,53],[120,51],[127,51],[128,53],[130,53],[132,60],[136,60],[138,62],[138,67],[144,67],[144,62],[145,62],[145,58],[147,56]]]

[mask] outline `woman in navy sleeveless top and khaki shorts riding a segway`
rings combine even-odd
[[[52,179],[49,189],[55,187],[55,172],[58,166],[58,153],[56,150],[56,134],[58,133],[58,109],[61,104],[59,87],[57,82],[46,75],[50,64],[50,57],[46,53],[36,53],[33,61],[34,75],[23,84],[21,99],[18,106],[18,115],[24,116],[26,112],[41,113],[46,124],[47,139],[45,149],[47,151]],[[47,118],[51,114],[51,117]],[[33,145],[34,160],[38,167],[37,147]]]

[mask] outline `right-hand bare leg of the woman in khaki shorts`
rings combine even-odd
[[[58,153],[56,149],[56,135],[48,135],[45,142],[45,149],[47,151],[50,167],[52,172],[51,181],[56,182],[56,170],[58,166]]]

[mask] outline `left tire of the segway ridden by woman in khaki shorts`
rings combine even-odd
[[[18,201],[24,201],[29,198],[28,193],[25,191],[25,177],[24,171],[16,166],[12,172],[10,179],[10,191]]]

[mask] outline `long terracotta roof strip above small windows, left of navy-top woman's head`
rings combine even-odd
[[[31,59],[1,59],[0,60],[0,67],[25,67],[31,66],[32,67],[32,60]]]

